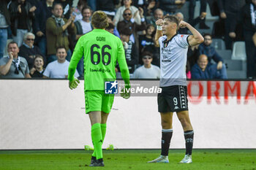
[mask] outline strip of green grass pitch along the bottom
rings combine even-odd
[[[193,150],[193,163],[178,164],[184,150],[170,150],[170,163],[146,163],[160,150],[104,150],[105,167],[89,167],[92,151],[0,150],[1,170],[256,170],[256,150]]]

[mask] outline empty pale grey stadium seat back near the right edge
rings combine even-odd
[[[233,45],[232,60],[246,61],[245,42],[235,42]]]

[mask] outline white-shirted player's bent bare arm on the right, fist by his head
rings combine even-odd
[[[185,21],[181,20],[179,24],[180,28],[187,27],[189,31],[192,32],[192,35],[189,36],[188,41],[190,46],[199,45],[203,42],[203,36],[198,32],[194,27],[192,27],[189,23],[186,23]]]

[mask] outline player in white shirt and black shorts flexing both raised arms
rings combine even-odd
[[[187,107],[186,63],[189,46],[203,42],[203,36],[189,23],[179,21],[173,15],[156,21],[155,40],[160,47],[160,88],[157,96],[158,111],[162,121],[162,152],[159,158],[148,163],[169,163],[168,150],[173,135],[173,112],[184,130],[186,154],[180,163],[192,163],[194,131]],[[178,28],[187,27],[192,35],[177,34]]]

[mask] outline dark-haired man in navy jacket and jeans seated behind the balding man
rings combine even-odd
[[[199,45],[199,53],[205,54],[208,57],[208,63],[211,65],[211,59],[217,63],[217,70],[221,70],[222,76],[227,78],[227,71],[225,65],[223,66],[223,59],[217,53],[214,47],[211,47],[212,39],[211,34],[204,34],[204,42]]]

